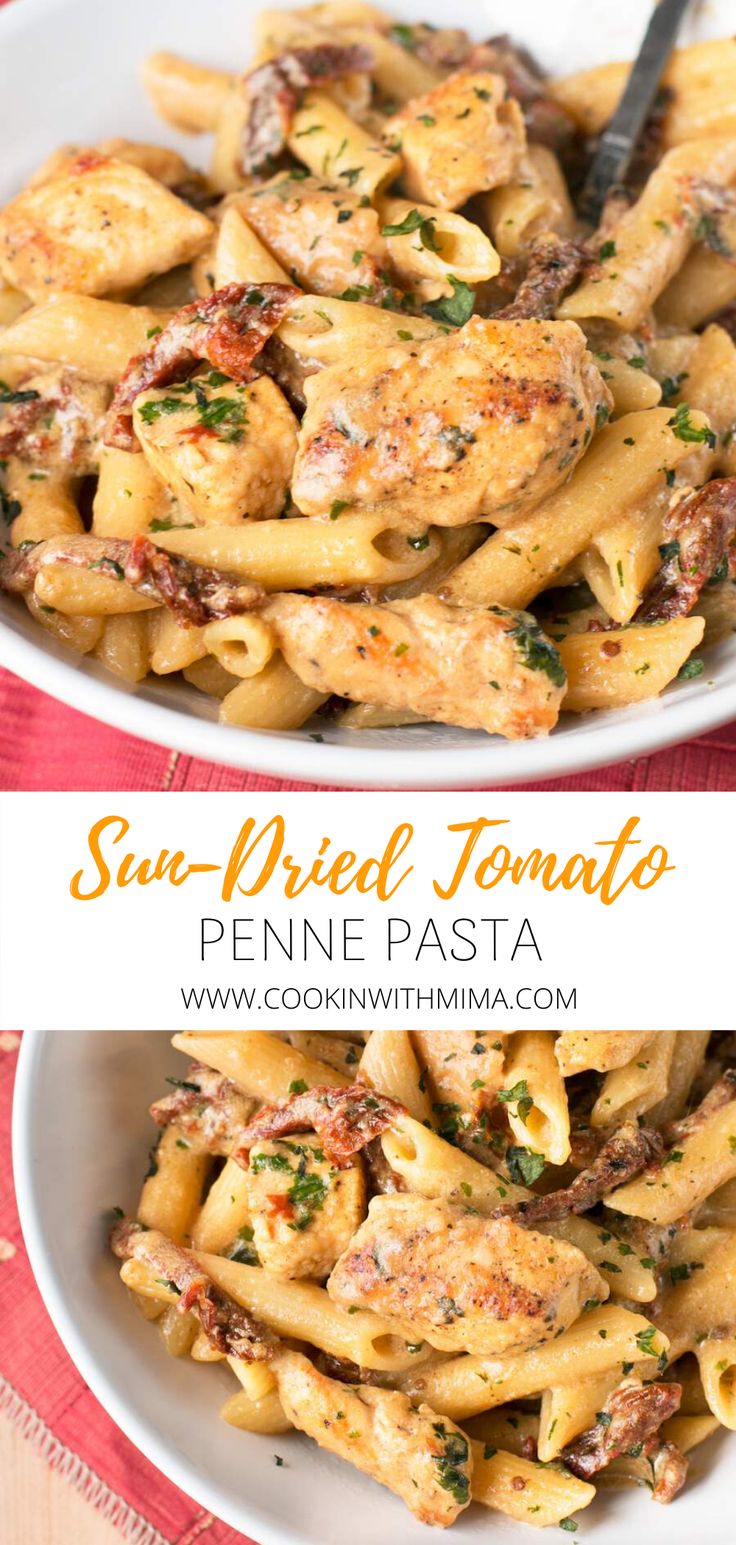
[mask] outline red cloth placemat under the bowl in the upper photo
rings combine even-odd
[[[3,3],[3,0],[0,0]],[[0,671],[0,789],[312,789],[238,772],[167,751],[65,708],[8,671]],[[651,757],[617,762],[529,789],[646,793],[736,789],[736,720]]]

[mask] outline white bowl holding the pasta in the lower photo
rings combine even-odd
[[[404,1505],[295,1434],[257,1437],[218,1418],[232,1378],[167,1357],[138,1315],[105,1250],[110,1207],[133,1210],[153,1126],[148,1103],[181,1071],[169,1038],[144,1031],[26,1034],[14,1103],[14,1173],[23,1238],[54,1326],[97,1400],[182,1491],[260,1545],[427,1545]],[[620,1545],[731,1545],[734,1438],[696,1449],[671,1508],[645,1491],[601,1492],[578,1514],[580,1539]],[[277,1468],[274,1452],[285,1458]],[[530,1530],[472,1508],[458,1545]],[[550,1536],[552,1537],[552,1536]]]

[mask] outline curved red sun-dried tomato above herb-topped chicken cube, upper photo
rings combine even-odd
[[[223,284],[206,300],[182,306],[156,329],[144,354],[135,354],[114,389],[105,443],[138,451],[133,403],[148,386],[170,386],[193,375],[199,360],[235,382],[250,382],[258,357],[298,295],[291,284]]]

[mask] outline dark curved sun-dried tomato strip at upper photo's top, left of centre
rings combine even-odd
[[[247,175],[258,167],[274,165],[286,150],[294,113],[308,87],[356,71],[365,73],[371,66],[373,54],[368,48],[317,43],[312,48],[291,48],[252,70],[243,80],[247,100],[243,171]]]

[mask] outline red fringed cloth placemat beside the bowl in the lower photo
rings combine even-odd
[[[131,1545],[255,1545],[172,1486],[128,1443],[51,1326],[25,1251],[12,1190],[11,1102],[19,1041],[8,1032],[0,1035],[0,1415]]]

